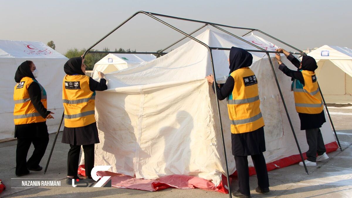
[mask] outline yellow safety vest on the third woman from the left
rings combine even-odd
[[[233,91],[227,98],[228,116],[231,120],[231,133],[241,134],[264,126],[258,81],[249,67],[240,68],[231,74],[235,81]]]

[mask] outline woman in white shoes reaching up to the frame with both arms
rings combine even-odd
[[[326,155],[323,137],[319,129],[326,120],[318,81],[314,73],[318,66],[311,56],[303,56],[302,62],[300,62],[284,49],[279,48],[276,51],[283,52],[287,59],[298,68],[297,71],[290,70],[282,63],[280,54],[276,54],[279,69],[290,76],[293,81],[291,90],[295,97],[296,111],[301,120],[301,130],[306,130],[309,150],[307,151],[307,160],[304,162],[307,166],[316,166],[316,162],[329,158]],[[303,162],[300,162],[299,165],[303,166]]]

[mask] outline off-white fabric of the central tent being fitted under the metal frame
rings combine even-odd
[[[255,35],[243,37],[267,50],[277,46]],[[256,49],[230,35],[206,30],[197,39],[212,47]],[[228,76],[229,51],[213,50],[216,76]],[[253,52],[251,69],[257,75],[260,108],[265,121],[267,163],[297,155],[298,149],[279,96],[269,60]],[[278,70],[278,80],[303,152],[305,132],[295,111],[291,81]],[[284,58],[283,58],[284,60]],[[284,62],[291,68],[287,60]],[[106,75],[108,90],[96,94],[96,119],[100,143],[95,144],[95,166],[109,171],[155,179],[164,175],[192,175],[221,182],[225,165],[219,119],[212,87],[208,50],[189,41],[168,54],[138,66]],[[230,174],[235,171],[231,154],[230,120],[226,100],[220,102]],[[330,125],[321,128],[325,143],[334,142]],[[84,163],[81,159],[81,164]],[[249,158],[249,165],[253,166]]]

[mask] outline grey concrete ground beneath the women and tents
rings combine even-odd
[[[330,159],[318,162],[316,167],[308,167],[309,175],[298,164],[269,172],[270,193],[255,192],[257,178],[250,177],[252,197],[352,197],[352,108],[329,108],[342,151],[338,149],[329,153]],[[50,142],[41,165],[44,167],[49,157],[55,134],[50,135]],[[47,173],[31,172],[24,178],[62,178],[65,184],[67,151],[69,146],[61,143],[61,133],[51,158]],[[16,141],[0,143],[0,179],[7,189],[1,197],[228,197],[228,194],[205,191],[201,189],[168,188],[157,192],[132,190],[124,188],[11,188],[15,177]],[[29,151],[31,154],[33,146]],[[234,179],[232,190],[237,189],[238,182]]]

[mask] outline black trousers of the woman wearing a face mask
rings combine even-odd
[[[33,143],[34,151],[27,161],[28,150]],[[16,174],[23,174],[28,171],[27,168],[37,168],[42,160],[45,149],[49,143],[49,136],[17,138],[16,148]]]

